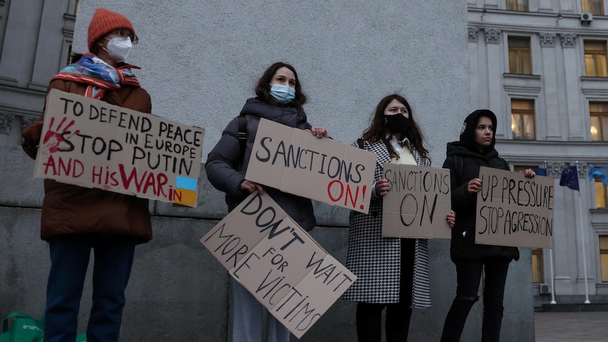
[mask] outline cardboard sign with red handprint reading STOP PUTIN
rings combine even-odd
[[[196,206],[205,130],[51,90],[36,178]]]

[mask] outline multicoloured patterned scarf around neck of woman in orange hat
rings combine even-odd
[[[118,68],[109,65],[99,57],[86,53],[76,63],[72,63],[59,71],[51,80],[68,80],[88,85],[85,92],[86,97],[102,99],[106,90],[118,90],[122,85],[133,85],[140,87],[140,83],[131,68],[137,68],[130,64],[124,64]]]

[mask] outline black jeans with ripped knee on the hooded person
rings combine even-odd
[[[466,318],[473,304],[479,300],[478,291],[482,270],[483,286],[482,342],[498,342],[502,324],[504,284],[511,259],[487,258],[459,260],[456,264],[456,298],[444,323],[442,342],[460,341]]]

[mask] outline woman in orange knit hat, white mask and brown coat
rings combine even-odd
[[[73,63],[51,79],[48,90],[150,113],[150,95],[132,73],[137,67],[125,63],[137,41],[127,18],[97,9],[88,28],[90,52],[73,54]],[[43,119],[44,113],[40,123]],[[24,140],[26,152],[35,152],[39,141],[25,134]],[[118,341],[135,245],[152,238],[148,200],[46,179],[41,237],[48,241],[51,257],[44,341],[75,341],[91,250],[95,258],[87,341]]]

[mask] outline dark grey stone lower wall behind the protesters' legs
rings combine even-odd
[[[20,147],[0,145],[0,150],[0,317],[13,311],[40,316],[50,267],[48,245],[39,238],[42,180],[32,180],[34,162]],[[226,208],[222,194],[204,174],[201,179],[197,209],[152,202],[154,238],[135,249],[121,341],[231,341],[229,275],[199,242]],[[312,237],[345,262],[348,212],[315,205],[319,226]],[[521,248],[521,254],[509,269],[501,341],[534,341],[530,250]],[[449,241],[431,240],[430,256],[433,307],[415,310],[412,341],[439,341],[456,289]],[[85,331],[90,310],[90,276],[91,271],[80,308],[80,331]],[[480,340],[481,309],[478,303],[471,311],[462,341]],[[355,304],[338,300],[300,341],[355,340]]]

